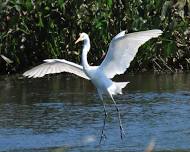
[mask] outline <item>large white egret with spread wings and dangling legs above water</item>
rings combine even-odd
[[[90,66],[87,61],[87,54],[90,50],[90,39],[86,33],[81,33],[75,43],[84,41],[82,49],[82,66],[64,59],[47,59],[45,63],[26,71],[23,75],[27,77],[43,77],[46,74],[69,72],[76,74],[85,79],[91,80],[95,85],[100,99],[104,105],[104,125],[100,142],[105,137],[106,109],[103,101],[103,94],[108,95],[118,112],[120,134],[123,138],[123,128],[120,119],[120,112],[116,105],[113,95],[122,94],[122,89],[129,82],[114,82],[111,80],[117,74],[123,74],[129,67],[130,62],[134,59],[138,48],[151,38],[156,38],[162,34],[161,30],[148,30],[135,33],[125,34],[125,31],[117,34],[111,41],[107,55],[100,66]]]

